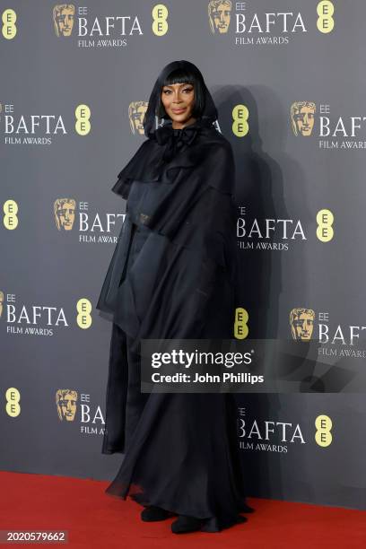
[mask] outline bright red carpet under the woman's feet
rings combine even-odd
[[[219,533],[178,536],[170,532],[173,518],[153,524],[142,522],[142,508],[137,503],[104,493],[107,482],[5,472],[0,472],[0,481],[0,529],[68,530],[65,547],[366,547],[366,513],[360,510],[248,498],[256,511],[247,515],[244,524]]]

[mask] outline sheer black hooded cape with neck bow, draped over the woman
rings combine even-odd
[[[144,116],[141,144],[118,173],[112,191],[126,200],[126,217],[97,309],[135,342],[140,339],[231,338],[236,277],[234,160],[213,126],[217,110],[205,87],[203,116],[182,129],[156,116],[164,67]],[[205,86],[205,84],[204,84]],[[125,270],[134,225],[148,231]]]

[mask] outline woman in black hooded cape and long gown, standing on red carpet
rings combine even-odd
[[[174,533],[244,522],[230,394],[143,394],[141,339],[231,338],[234,162],[196,65],[166,65],[144,115],[147,139],[112,190],[126,218],[97,308],[113,313],[102,453],[126,454],[106,492],[173,515]],[[157,124],[158,123],[158,124]]]

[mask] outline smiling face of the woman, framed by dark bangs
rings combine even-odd
[[[190,83],[175,83],[162,86],[161,102],[167,115],[172,119],[174,128],[192,124],[195,105],[195,89]]]

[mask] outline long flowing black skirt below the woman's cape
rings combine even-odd
[[[143,244],[144,231],[133,231],[126,269]],[[244,522],[234,396],[141,393],[140,360],[114,322],[102,453],[125,456],[106,492],[201,518],[206,532]]]

